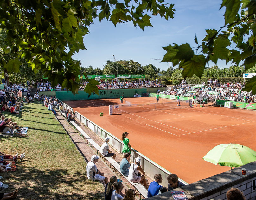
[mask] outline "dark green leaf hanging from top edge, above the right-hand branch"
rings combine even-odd
[[[225,25],[231,24],[236,20],[236,15],[239,11],[241,1],[240,0],[223,0],[221,4],[221,8],[223,6],[226,7],[225,11]]]

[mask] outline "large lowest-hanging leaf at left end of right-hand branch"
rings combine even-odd
[[[193,58],[182,65],[179,68],[183,68],[183,77],[192,77],[194,74],[201,78],[205,66],[205,56],[204,55],[194,55]]]

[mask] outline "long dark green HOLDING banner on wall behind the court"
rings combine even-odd
[[[55,91],[56,97],[61,101],[73,101],[73,100],[86,100],[86,99],[107,99],[107,98],[120,98],[124,95],[124,98],[134,97],[135,91],[138,90],[138,94],[146,93],[147,88],[123,88],[123,89],[100,89],[99,95],[92,93],[90,96],[85,91],[78,91],[78,94],[74,95],[70,91]],[[42,91],[47,95],[46,91]],[[39,93],[41,94],[41,92]]]

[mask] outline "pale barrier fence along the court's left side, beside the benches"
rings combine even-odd
[[[123,146],[124,146],[123,141],[121,141],[119,138],[112,135],[110,132],[107,132],[106,130],[104,130],[103,128],[101,128],[100,126],[95,124],[94,122],[90,121],[89,119],[87,119],[86,117],[81,115],[79,112],[76,112],[76,118],[78,119],[78,121],[80,121],[85,126],[90,128],[99,137],[101,137],[103,139],[105,139],[106,137],[109,137],[110,141],[109,141],[108,144],[110,144],[120,154],[122,154],[122,149],[123,149]],[[135,149],[132,149],[130,160],[132,162],[134,162],[135,158],[138,157],[138,156],[141,158],[141,163],[140,163],[141,168],[147,174],[149,174],[151,177],[154,177],[155,174],[161,174],[163,180],[166,180],[167,176],[169,174],[171,174],[168,170],[164,169],[163,167],[161,167],[160,165],[158,165],[154,161],[150,160],[148,157],[144,156],[142,153],[138,152]],[[188,184],[185,181],[183,181],[182,179],[179,179],[179,181],[184,183],[185,185]],[[163,182],[163,186],[167,187],[168,185],[166,185],[166,182]]]

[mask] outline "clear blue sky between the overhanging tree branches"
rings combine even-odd
[[[160,63],[166,53],[163,46],[172,43],[189,43],[191,47],[196,46],[195,34],[198,41],[205,36],[205,29],[219,29],[224,26],[225,8],[219,10],[221,0],[167,0],[173,3],[176,9],[174,18],[166,21],[160,16],[153,16],[151,24],[154,27],[145,27],[144,31],[135,28],[132,23],[117,24],[115,27],[111,21],[98,19],[89,27],[90,34],[84,38],[87,50],[73,56],[81,60],[82,66],[89,65],[93,68],[103,69],[107,60],[134,60],[142,66],[153,64],[160,70],[166,70],[169,63]],[[214,65],[209,63],[210,66]],[[219,60],[217,65],[229,67],[225,61]],[[175,67],[177,68],[177,66]]]

